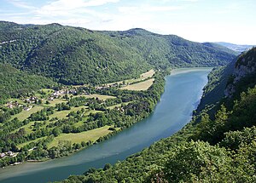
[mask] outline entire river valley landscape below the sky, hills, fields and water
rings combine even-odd
[[[1,182],[255,181],[255,48],[8,21],[0,43]]]

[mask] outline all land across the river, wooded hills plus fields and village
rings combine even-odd
[[[0,32],[1,167],[108,139],[154,110],[172,68],[224,66],[236,58],[214,44],[142,29],[1,21]]]

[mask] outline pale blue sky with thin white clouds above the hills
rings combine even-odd
[[[256,45],[256,0],[0,0],[0,20]]]

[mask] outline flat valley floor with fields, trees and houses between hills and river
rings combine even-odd
[[[127,128],[127,124],[117,121],[119,117],[122,123],[134,123],[147,117],[142,109],[136,114],[137,110],[132,107],[147,105],[139,103],[137,97],[143,90],[147,94],[148,88],[154,85],[154,74],[155,71],[150,70],[138,78],[122,82],[96,87],[69,85],[58,90],[40,89],[12,98],[1,106],[1,133],[6,140],[13,138],[13,143],[4,143],[2,148],[10,146],[8,151],[14,154],[9,156],[7,150],[2,150],[1,166],[67,156]],[[125,87],[131,88],[123,91]],[[20,135],[24,137],[20,138]]]

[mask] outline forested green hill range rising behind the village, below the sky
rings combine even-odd
[[[138,77],[149,68],[224,66],[230,50],[143,29],[90,31],[50,24],[0,22],[0,61],[64,84],[99,84]]]

